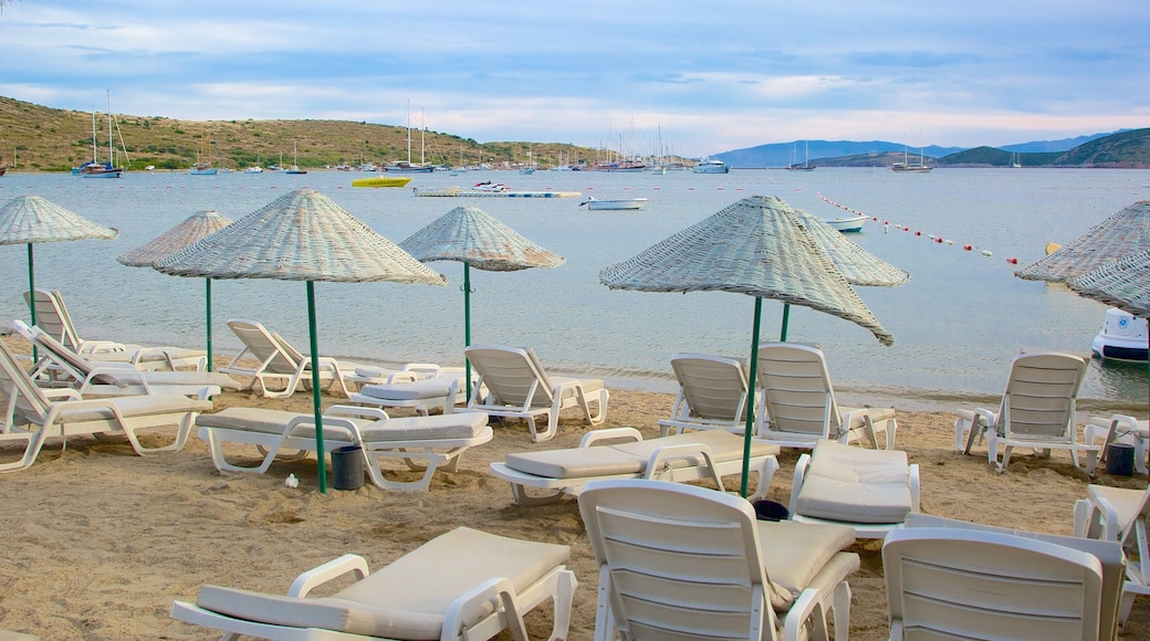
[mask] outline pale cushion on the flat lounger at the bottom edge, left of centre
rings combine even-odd
[[[566,546],[459,527],[328,597],[292,598],[202,586],[197,604],[236,618],[300,628],[439,639],[444,612],[460,595],[492,577],[504,577],[522,592],[569,556]],[[489,612],[475,612],[474,618]]]

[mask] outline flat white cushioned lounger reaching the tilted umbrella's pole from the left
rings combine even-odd
[[[751,499],[766,497],[779,470],[777,454],[779,447],[752,441],[750,470],[759,473],[759,481]],[[742,465],[742,437],[723,430],[644,441],[634,427],[613,427],[588,432],[576,448],[509,454],[503,463],[491,464],[491,473],[511,484],[516,503],[538,505],[576,496],[588,482],[603,479],[710,479],[721,489],[722,477],[741,473]],[[528,488],[546,494],[532,496]]]

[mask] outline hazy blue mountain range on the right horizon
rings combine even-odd
[[[928,161],[937,159],[937,164],[964,167],[1010,164],[1012,155],[1015,153],[1022,155],[1022,164],[1026,167],[1059,164],[1057,162],[1058,159],[1072,149],[1083,147],[1084,145],[1101,139],[1114,136],[1125,136],[1130,132],[1150,132],[1150,130],[1126,129],[1110,133],[1095,133],[1092,136],[1079,136],[1078,138],[1065,138],[1061,140],[1035,140],[1032,142],[1007,145],[998,148],[975,147],[973,149],[968,149],[964,147],[941,147],[937,145],[930,145],[928,147],[923,147],[921,153]],[[1145,136],[1135,136],[1134,138],[1143,139]],[[1136,147],[1141,147],[1141,145],[1137,145]],[[990,150],[991,153],[989,155],[975,154],[973,157],[963,157],[964,154],[979,149]],[[1138,154],[1135,148],[1127,148],[1126,152],[1133,154],[1133,157],[1125,159],[1116,156],[1106,160],[1095,159],[1092,162],[1109,162],[1111,163],[1111,167],[1117,165],[1114,163],[1121,163],[1124,161],[1129,161],[1135,165],[1140,165],[1138,163],[1150,162],[1150,157],[1137,157],[1141,154]],[[730,152],[714,154],[712,157],[716,157],[734,168],[788,167],[790,164],[804,163],[822,167],[865,167],[889,165],[892,162],[902,161],[904,153],[913,156],[911,159],[912,161],[917,161],[920,150],[918,147],[907,147],[898,142],[888,142],[884,140],[869,140],[865,142],[852,140],[795,140],[791,142],[773,142],[745,149],[734,149]],[[1032,157],[1026,157],[1032,154]],[[956,156],[954,161],[957,162],[948,162],[948,159],[952,156]],[[1032,162],[1025,162],[1026,160],[1030,160]],[[1079,163],[1088,162],[1080,155],[1073,156],[1073,160]]]

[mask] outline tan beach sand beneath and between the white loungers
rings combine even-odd
[[[673,399],[613,391],[605,426],[628,425],[657,437],[656,420],[668,415]],[[325,406],[339,400],[324,395]],[[215,404],[232,406],[309,411],[310,395],[267,400],[229,393]],[[1074,501],[1089,480],[1065,453],[1045,461],[1017,456],[1009,472],[998,474],[984,448],[980,456],[953,451],[953,418],[898,412],[897,446],[921,466],[923,512],[1071,534]],[[576,501],[518,507],[508,485],[488,471],[512,451],[573,447],[588,430],[574,410],[564,412],[558,437],[545,443],[532,445],[522,423],[497,425],[494,439],[466,453],[455,473],[438,472],[429,493],[386,492],[368,482],[325,495],[317,492],[314,457],[276,463],[262,476],[221,474],[194,435],[182,451],[147,457],[120,439],[74,437],[63,449],[52,441],[30,469],[0,478],[6,497],[0,628],[51,640],[217,639],[215,631],[169,618],[171,602],[193,601],[201,584],[283,594],[298,573],[342,554],[362,555],[376,569],[466,525],[570,546],[580,587],[569,639],[590,639],[597,572]],[[229,451],[255,456],[254,449]],[[772,499],[788,501],[798,455],[780,456]],[[298,488],[284,485],[289,473],[299,478]],[[1099,474],[1096,482],[1142,489],[1147,478]],[[737,478],[728,487],[737,488]],[[852,549],[862,564],[850,579],[851,638],[885,639],[881,542],[860,541]],[[550,631],[550,619],[549,607],[531,612],[532,638]],[[1150,600],[1135,603],[1122,638],[1150,638]]]

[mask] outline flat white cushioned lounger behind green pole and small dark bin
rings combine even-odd
[[[212,462],[222,472],[268,470],[281,450],[293,450],[288,459],[299,459],[315,451],[315,417],[310,414],[228,408],[197,418],[199,434],[208,445]],[[328,451],[339,447],[362,448],[365,468],[377,487],[427,492],[436,470],[454,472],[460,456],[491,440],[492,431],[482,414],[412,416],[389,418],[375,408],[332,406],[323,414],[323,445]],[[256,446],[263,458],[255,465],[229,463],[223,446],[228,442]],[[399,459],[423,476],[415,481],[392,480],[383,476],[384,459]]]

